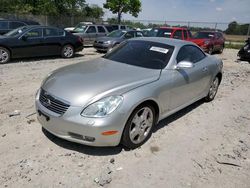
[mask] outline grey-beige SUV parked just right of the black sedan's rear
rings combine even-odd
[[[84,45],[93,45],[94,41],[98,37],[103,37],[109,33],[108,29],[104,25],[85,25],[79,24],[73,31],[74,35],[82,37]]]

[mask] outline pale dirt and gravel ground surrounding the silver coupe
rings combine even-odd
[[[34,96],[52,70],[101,56],[16,60],[0,66],[0,187],[250,187],[250,64],[216,55],[215,100],[161,121],[141,148],[94,148],[41,130]],[[20,115],[9,117],[15,110]],[[32,115],[33,114],[33,115]],[[27,117],[28,116],[28,117]]]

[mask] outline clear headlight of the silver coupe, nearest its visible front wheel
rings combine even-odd
[[[86,107],[82,111],[81,115],[85,117],[105,117],[114,112],[122,101],[122,96],[110,96],[103,98]]]

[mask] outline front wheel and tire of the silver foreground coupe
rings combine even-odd
[[[128,149],[141,146],[150,138],[155,122],[155,109],[151,105],[138,106],[125,125],[122,144]]]

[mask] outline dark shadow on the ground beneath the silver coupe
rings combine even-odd
[[[164,128],[165,126],[168,126],[170,123],[172,123],[173,121],[185,116],[186,114],[188,114],[189,112],[191,112],[192,110],[194,110],[195,108],[199,107],[200,105],[202,105],[204,103],[204,100],[200,100],[186,108],[184,108],[183,110],[180,110],[179,112],[176,112],[175,114],[161,120],[154,128],[153,128],[153,133],[155,133],[156,131],[158,131],[161,128]],[[63,147],[64,149],[68,149],[68,150],[72,150],[72,151],[77,151],[83,154],[87,154],[87,155],[93,155],[93,156],[108,156],[108,155],[116,155],[119,154],[122,149],[128,151],[129,149],[124,148],[123,146],[119,145],[116,147],[91,147],[91,146],[86,146],[86,145],[82,145],[82,144],[78,144],[78,143],[74,143],[74,142],[70,142],[67,140],[63,140],[61,138],[58,138],[54,135],[52,135],[51,133],[49,133],[48,131],[46,131],[45,129],[42,129],[44,135],[50,139],[52,142],[54,142],[56,145]],[[150,138],[149,138],[150,139]],[[143,147],[143,146],[142,146]]]

